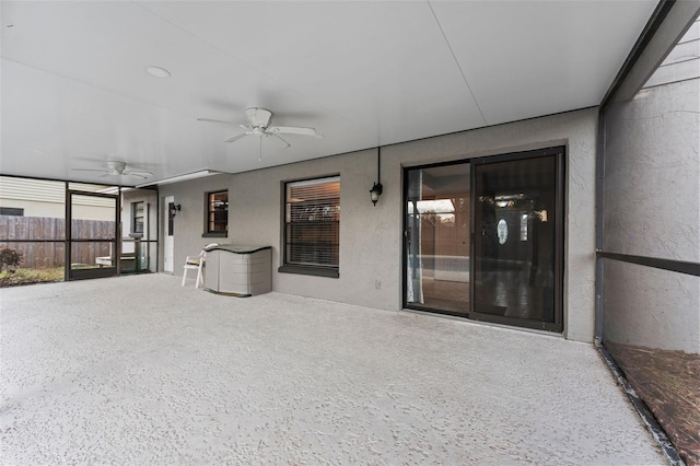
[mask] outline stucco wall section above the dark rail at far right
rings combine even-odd
[[[700,261],[700,80],[606,115],[605,251]]]

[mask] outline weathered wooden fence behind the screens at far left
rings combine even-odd
[[[116,236],[114,221],[73,220],[71,230],[74,240],[107,240]],[[71,264],[94,266],[96,257],[110,255],[110,244],[73,243]],[[49,217],[0,215],[0,248],[4,247],[22,253],[20,267],[63,267],[66,221]]]

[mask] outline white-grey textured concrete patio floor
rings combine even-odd
[[[663,464],[593,347],[152,275],[0,290],[7,464]]]

